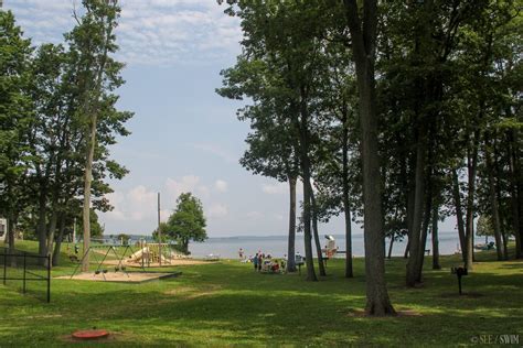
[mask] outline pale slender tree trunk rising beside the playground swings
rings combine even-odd
[[[90,247],[90,184],[93,182],[93,159],[95,154],[96,146],[96,115],[93,116],[90,121],[89,134],[87,139],[87,160],[85,162],[85,184],[84,184],[84,211],[83,211],[83,222],[84,222],[84,254],[82,262],[82,272],[87,272],[89,270],[89,253],[87,252]]]

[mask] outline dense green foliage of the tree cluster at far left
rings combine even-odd
[[[111,209],[104,198],[113,192],[107,177],[128,173],[110,159],[110,145],[129,134],[125,122],[132,117],[116,107],[115,90],[124,84],[124,64],[111,57],[119,8],[115,1],[84,0],[64,44],[36,48],[22,37],[12,13],[0,11],[0,216],[31,214],[28,228],[39,224],[41,240],[53,214],[71,219],[79,211],[94,115],[88,192],[95,209]]]

